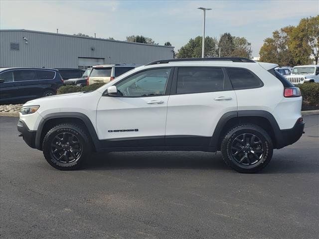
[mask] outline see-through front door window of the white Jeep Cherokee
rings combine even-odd
[[[170,68],[143,71],[121,81],[116,86],[123,96],[161,96],[165,92],[169,72]]]

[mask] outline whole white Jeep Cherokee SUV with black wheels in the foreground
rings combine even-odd
[[[275,67],[246,58],[156,61],[95,91],[29,101],[17,128],[61,170],[92,151],[220,150],[236,171],[257,172],[304,130],[299,88]]]

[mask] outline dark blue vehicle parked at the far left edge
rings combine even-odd
[[[52,96],[63,85],[59,72],[49,68],[0,68],[0,101],[24,103]]]

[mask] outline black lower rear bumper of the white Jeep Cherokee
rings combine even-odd
[[[277,142],[277,148],[283,148],[287,145],[297,142],[304,133],[305,122],[296,122],[294,127],[290,129],[280,130],[282,139]]]

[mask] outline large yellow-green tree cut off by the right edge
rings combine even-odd
[[[290,34],[288,44],[297,64],[309,64],[319,59],[319,15],[300,20]]]

